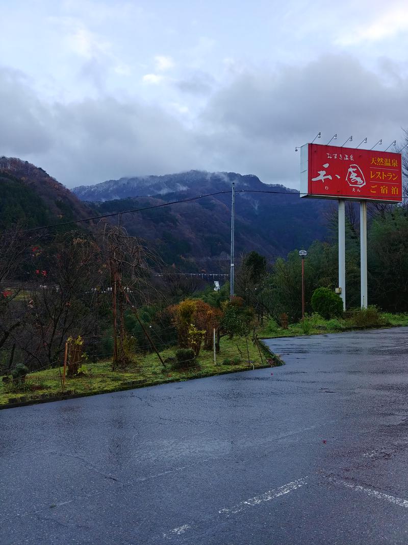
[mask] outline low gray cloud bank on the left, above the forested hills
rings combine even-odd
[[[0,116],[0,154],[32,161],[69,187],[205,166],[194,135],[176,118],[134,100],[47,104],[18,74],[3,71]]]

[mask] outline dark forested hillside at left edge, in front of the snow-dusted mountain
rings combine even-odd
[[[36,227],[83,219],[88,205],[42,168],[16,158],[0,158],[0,226]]]

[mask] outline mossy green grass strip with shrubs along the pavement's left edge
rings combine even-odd
[[[75,395],[92,395],[95,393],[108,393],[119,390],[126,390],[140,385],[149,386],[156,384],[165,384],[175,380],[188,380],[192,378],[210,377],[217,374],[223,374],[234,371],[244,371],[254,368],[260,368],[267,365],[282,365],[278,356],[271,354],[267,347],[261,344],[261,355],[258,348],[248,341],[249,361],[245,338],[223,337],[220,342],[220,353],[217,354],[217,364],[214,365],[213,352],[201,350],[197,357],[197,365],[193,368],[174,370],[170,365],[163,368],[156,354],[140,354],[135,356],[134,366],[125,371],[112,371],[110,360],[98,361],[95,364],[87,364],[86,376],[76,378],[66,378],[65,391]],[[160,353],[163,360],[174,358],[176,347],[169,348]],[[267,359],[271,360],[268,364]],[[228,364],[223,364],[223,360],[228,360]],[[18,401],[35,401],[47,397],[60,396],[61,368],[47,369],[29,373],[25,384],[16,389],[9,382],[0,379],[0,405]]]

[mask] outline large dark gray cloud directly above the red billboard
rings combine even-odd
[[[206,116],[256,138],[310,136],[320,127],[370,132],[401,122],[407,87],[406,80],[383,83],[352,57],[327,56],[301,69],[242,74],[215,96]]]

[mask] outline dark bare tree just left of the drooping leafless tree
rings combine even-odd
[[[24,327],[13,334],[33,367],[54,366],[69,336],[88,336],[94,326],[92,288],[98,282],[100,250],[91,237],[68,233],[32,263],[22,304]]]

